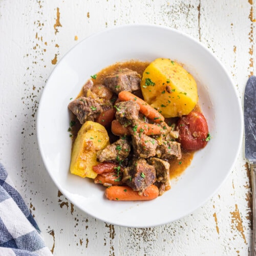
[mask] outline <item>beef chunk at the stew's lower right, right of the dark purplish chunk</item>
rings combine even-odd
[[[148,164],[153,165],[156,168],[157,181],[169,182],[169,168],[170,164],[160,158],[151,157],[147,159]]]

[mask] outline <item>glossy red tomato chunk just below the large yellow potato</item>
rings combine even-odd
[[[196,151],[207,144],[209,131],[204,115],[198,111],[191,111],[178,120],[179,142],[186,151]]]

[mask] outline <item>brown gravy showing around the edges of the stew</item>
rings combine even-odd
[[[106,67],[105,69],[101,70],[97,73],[96,79],[92,79],[94,85],[97,84],[103,84],[104,78],[107,74],[113,73],[115,71],[118,71],[120,69],[128,68],[131,70],[137,71],[141,76],[145,70],[145,68],[149,65],[150,62],[141,62],[137,60],[131,60],[127,62],[118,62],[114,65],[111,65],[109,67]],[[94,75],[94,74],[92,74]],[[83,95],[83,90],[80,91],[80,93],[77,95],[76,98],[79,98]],[[139,95],[138,95],[139,96]],[[142,95],[140,95],[142,97]],[[199,106],[196,106],[196,108],[199,109]],[[76,122],[74,125],[72,131],[73,131],[73,141],[80,129],[81,125]],[[182,151],[182,158],[181,159],[172,159],[169,160],[170,163],[170,179],[175,179],[179,177],[184,170],[190,165],[192,159],[194,157],[194,152],[183,152]]]

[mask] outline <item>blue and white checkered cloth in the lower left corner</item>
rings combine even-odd
[[[22,196],[0,163],[0,255],[52,255]]]

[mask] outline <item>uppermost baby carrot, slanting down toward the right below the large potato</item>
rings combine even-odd
[[[164,121],[164,117],[157,110],[152,108],[151,105],[147,104],[144,100],[137,97],[136,95],[127,91],[122,91],[118,94],[118,98],[121,101],[127,101],[127,100],[136,101],[139,104],[140,112],[143,115],[150,118],[151,120],[154,120],[154,122],[157,122],[157,123],[161,123]]]

